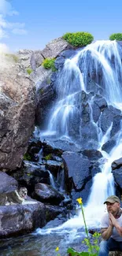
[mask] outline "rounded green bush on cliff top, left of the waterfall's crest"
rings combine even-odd
[[[93,35],[88,32],[76,32],[76,33],[66,33],[62,36],[68,43],[72,46],[80,47],[87,46],[87,44],[91,43],[94,40]]]

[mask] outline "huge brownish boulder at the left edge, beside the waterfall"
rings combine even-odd
[[[0,63],[0,169],[17,169],[35,125],[35,89],[11,55]]]

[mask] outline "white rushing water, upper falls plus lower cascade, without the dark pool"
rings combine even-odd
[[[65,67],[57,80],[57,102],[50,113],[48,132],[57,135],[69,136],[69,121],[77,117],[79,112],[80,92],[87,92],[87,73],[92,76],[95,70],[96,83],[103,87],[102,96],[108,105],[122,110],[122,65],[120,59],[120,47],[116,41],[98,41],[86,46],[72,59],[65,61]],[[99,69],[102,70],[102,84],[98,76]],[[82,72],[81,72],[82,71]],[[102,173],[94,176],[87,206],[84,207],[87,225],[98,227],[100,219],[105,211],[103,202],[109,195],[114,195],[113,174],[111,164],[114,160],[122,157],[122,129],[117,134],[116,146],[109,154],[102,151],[102,145],[109,140],[113,123],[109,126],[105,135],[96,125],[98,131],[98,150],[102,152],[104,163],[100,165]],[[121,125],[122,126],[122,125]],[[48,230],[39,229],[38,233],[65,232],[66,229],[79,228],[83,226],[82,213],[57,228]]]

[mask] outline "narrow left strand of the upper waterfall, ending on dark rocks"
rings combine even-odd
[[[51,110],[47,134],[69,135],[69,126],[78,117],[80,93],[85,90],[83,76],[73,59],[65,61],[65,66],[57,78],[57,102]]]

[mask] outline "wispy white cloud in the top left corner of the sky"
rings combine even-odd
[[[7,0],[0,0],[0,39],[9,36],[10,32],[15,35],[26,35],[24,23],[8,22],[6,17],[19,14],[13,9],[10,2]]]

